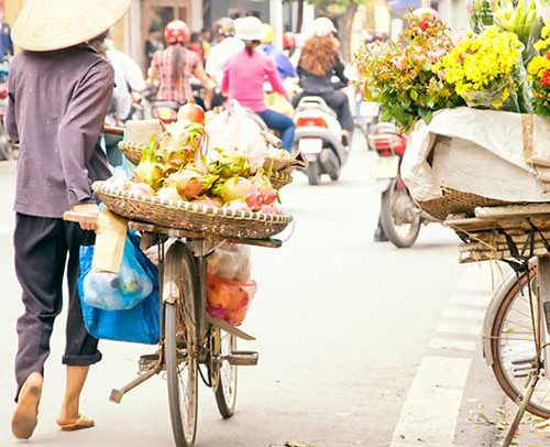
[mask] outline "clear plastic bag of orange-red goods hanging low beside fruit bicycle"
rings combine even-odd
[[[238,326],[246,317],[256,287],[255,281],[227,280],[208,274],[207,312],[213,318]]]

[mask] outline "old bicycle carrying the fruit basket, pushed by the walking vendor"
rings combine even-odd
[[[67,212],[64,218],[77,222],[97,219],[75,212]],[[221,416],[230,418],[237,404],[237,367],[255,366],[258,359],[257,352],[237,350],[237,338],[254,340],[254,337],[206,312],[207,258],[223,242],[265,248],[279,248],[282,242],[217,239],[132,220],[129,228],[142,233],[143,249],[153,246],[158,249],[161,339],[155,353],[140,358],[140,375],[112,390],[110,400],[120,403],[129,391],[165,371],[175,445],[193,447],[197,433],[198,378],[215,392]]]

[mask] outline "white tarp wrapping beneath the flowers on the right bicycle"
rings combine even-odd
[[[443,186],[505,201],[550,201],[550,120],[440,110],[411,132],[402,175],[419,201],[441,197]]]

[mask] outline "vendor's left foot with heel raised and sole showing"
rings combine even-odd
[[[11,432],[19,439],[29,439],[38,422],[38,404],[44,379],[33,372],[19,392],[18,406],[11,419]]]

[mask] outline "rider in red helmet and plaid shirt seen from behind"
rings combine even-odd
[[[211,80],[205,74],[197,53],[186,48],[191,33],[182,20],[174,20],[166,25],[164,39],[168,47],[156,52],[151,63],[148,81],[158,80],[158,101],[174,101],[179,105],[193,98],[191,75],[205,86],[212,88]]]

